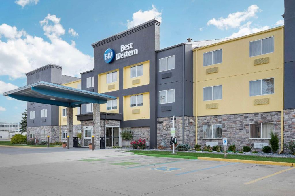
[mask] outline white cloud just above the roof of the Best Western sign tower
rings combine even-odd
[[[142,11],[139,10],[135,13],[133,13],[132,20],[127,20],[127,28],[130,29],[132,27],[135,27],[139,24],[142,24],[144,22],[147,22],[151,19],[157,19],[159,22],[162,21],[162,12],[158,11],[157,8],[152,5],[152,9]]]

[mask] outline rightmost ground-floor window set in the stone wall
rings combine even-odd
[[[274,131],[274,123],[250,124],[250,139],[270,139]]]

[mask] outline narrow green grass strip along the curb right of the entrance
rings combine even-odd
[[[171,151],[158,151],[158,150],[130,150],[130,152],[141,153],[141,154],[164,154],[173,156],[190,156],[190,157],[212,157],[222,159],[240,159],[240,160],[253,160],[253,161],[274,161],[274,162],[287,162],[295,163],[295,158],[283,158],[283,157],[261,157],[255,155],[239,155],[239,154],[213,154],[213,153],[197,153],[197,152],[179,152],[177,154],[171,154]]]

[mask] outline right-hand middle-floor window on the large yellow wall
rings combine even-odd
[[[250,81],[250,96],[273,94],[273,78]]]

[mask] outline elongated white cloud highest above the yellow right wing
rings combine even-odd
[[[256,12],[258,11],[259,7],[257,5],[251,5],[247,10],[237,11],[235,13],[229,14],[227,18],[213,18],[207,22],[207,25],[214,25],[218,29],[237,28],[240,27],[241,22],[256,17]]]

